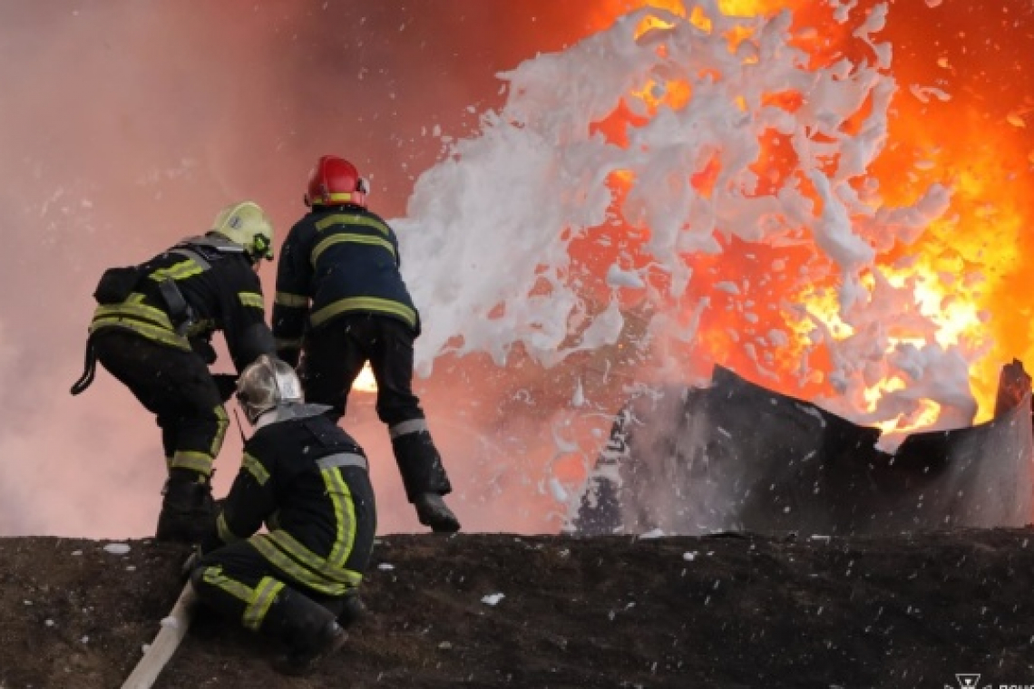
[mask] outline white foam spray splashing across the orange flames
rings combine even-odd
[[[815,69],[791,40],[789,11],[731,18],[711,0],[698,4],[713,24],[710,32],[664,10],[637,10],[562,53],[500,74],[509,85],[503,108],[486,113],[478,135],[453,142],[447,159],[421,175],[407,217],[393,221],[424,313],[418,372],[429,374],[449,351],[487,352],[504,365],[519,344],[550,367],[573,352],[624,342],[628,319],[617,293],[630,288],[642,289],[653,313],[646,333],[653,346],[692,343],[711,295],[686,293],[687,256],[721,251],[716,236],[724,234],[811,246],[813,258],[797,284],[834,275],[838,315],[849,328],[844,337],[816,321],[810,333],[791,336],[787,326],[768,337],[773,331],[766,325],[752,337],[757,312],[743,308],[736,341],[757,362],[752,375],[776,376],[769,363],[793,340],[802,345],[799,379],[815,380],[807,356],[821,344],[833,369],[823,377],[828,395],[820,402],[838,413],[875,424],[908,416],[930,398],[942,405],[935,428],[971,422],[967,371],[974,352],[938,343],[937,326],[916,308],[914,294],[889,285],[875,268],[879,252],[915,242],[950,202],[949,189],[934,184],[910,205],[888,206],[869,171],[887,143],[898,93],[892,52],[875,35],[886,6],[864,15],[855,3],[837,6],[837,20],[856,24],[853,35],[869,54]],[[670,28],[636,39],[646,17]],[[733,30],[751,36],[736,50],[726,38]],[[692,97],[679,109],[662,106],[650,116],[629,95],[650,82],[688,84]],[[769,96],[786,92],[799,96],[796,109],[771,103]],[[912,95],[947,96],[933,89]],[[628,125],[627,147],[592,126],[622,101],[645,117]],[[796,163],[769,193],[759,193],[756,167],[772,132],[785,137]],[[716,164],[707,193],[690,183]],[[624,198],[608,184],[616,170],[629,180]],[[641,272],[608,264],[600,270],[609,302],[594,306],[585,299],[584,285],[570,274],[571,245],[594,240],[608,217],[649,227],[643,252],[650,270],[669,278],[667,293],[649,288]],[[781,273],[783,260],[754,270]],[[713,289],[723,299],[751,299],[739,280]],[[800,304],[781,307],[788,322],[807,311]],[[687,325],[678,314],[695,315]],[[919,337],[891,346],[899,325]],[[681,364],[669,357],[659,366],[678,375]],[[894,375],[905,389],[887,393],[870,410],[866,386]],[[792,384],[787,378],[784,384]]]

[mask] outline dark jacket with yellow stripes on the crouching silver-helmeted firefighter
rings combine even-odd
[[[376,533],[362,448],[326,407],[284,405],[244,445],[244,460],[203,552],[242,538],[297,583],[328,596],[360,585]],[[266,525],[265,533],[256,534]]]

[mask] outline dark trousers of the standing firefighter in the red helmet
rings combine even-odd
[[[413,331],[401,320],[374,314],[339,316],[305,336],[300,375],[305,400],[344,414],[352,383],[370,363],[377,381],[377,416],[388,426],[406,497],[452,491],[431,439],[420,400],[413,394]]]

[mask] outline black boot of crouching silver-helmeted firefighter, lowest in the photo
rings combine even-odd
[[[262,631],[284,646],[284,652],[273,660],[273,668],[294,677],[312,672],[348,638],[333,613],[294,589],[282,589],[276,596]]]

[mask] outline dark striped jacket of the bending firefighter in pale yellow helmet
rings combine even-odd
[[[217,234],[190,238],[136,272],[124,301],[101,304],[94,311],[91,334],[120,327],[172,347],[205,352],[211,364],[215,353],[208,342],[215,331],[222,331],[238,371],[260,354],[274,353],[262,284],[240,245]],[[177,313],[170,305],[171,287],[182,296],[186,312]]]

